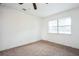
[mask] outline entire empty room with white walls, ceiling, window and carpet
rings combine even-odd
[[[79,3],[0,3],[0,56],[79,56]]]

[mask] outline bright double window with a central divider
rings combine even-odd
[[[71,34],[71,17],[59,18],[49,21],[48,32]]]

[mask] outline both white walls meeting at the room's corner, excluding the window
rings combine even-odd
[[[47,22],[63,16],[71,16],[72,34],[47,33]],[[79,48],[79,8],[40,19],[0,6],[0,51],[40,39]]]

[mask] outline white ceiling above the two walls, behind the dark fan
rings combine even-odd
[[[26,14],[38,17],[46,17],[55,13],[79,7],[79,3],[36,3],[37,10],[34,10],[32,3],[24,3],[23,5],[19,5],[18,3],[4,3],[2,5],[12,7]],[[26,11],[23,11],[23,8],[25,8]]]

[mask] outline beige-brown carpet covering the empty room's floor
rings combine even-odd
[[[79,49],[40,40],[0,52],[1,56],[79,56]]]

